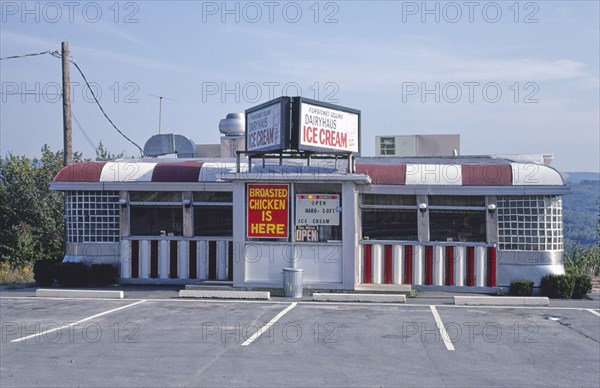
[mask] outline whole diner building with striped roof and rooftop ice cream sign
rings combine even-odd
[[[282,140],[291,151],[269,143],[280,141],[287,112],[308,123]],[[66,199],[65,260],[113,263],[123,284],[241,288],[281,288],[284,268],[303,269],[305,288],[328,290],[490,291],[564,272],[569,188],[548,160],[360,157],[359,115],[282,98],[228,116],[238,139],[231,120],[246,121],[235,158],[67,166],[51,183]]]

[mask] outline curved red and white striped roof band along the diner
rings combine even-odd
[[[242,164],[247,171],[247,164]],[[260,166],[253,166],[260,172]],[[236,164],[198,160],[158,161],[157,159],[114,162],[84,162],[63,168],[54,182],[222,182],[224,174],[235,174]],[[314,175],[314,172],[311,173]],[[344,174],[328,172],[329,177]],[[356,174],[368,175],[373,185],[441,186],[564,186],[560,173],[536,163],[510,161],[476,163],[384,163],[361,158]],[[285,180],[282,174],[281,179]]]

